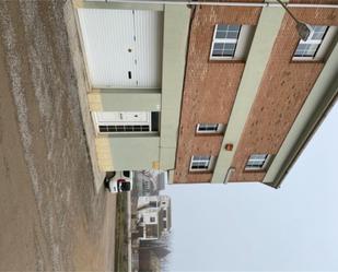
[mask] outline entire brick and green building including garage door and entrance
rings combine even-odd
[[[284,2],[306,42],[273,0],[73,0],[101,169],[279,187],[338,91],[338,2]]]

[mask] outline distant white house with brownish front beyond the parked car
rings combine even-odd
[[[158,240],[172,227],[171,199],[167,196],[138,199],[138,234],[140,240]]]

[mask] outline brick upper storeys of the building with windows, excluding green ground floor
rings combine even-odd
[[[194,9],[175,184],[279,187],[337,94],[338,9],[295,2],[307,42],[281,8]]]

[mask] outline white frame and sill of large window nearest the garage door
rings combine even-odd
[[[244,60],[248,54],[249,46],[252,44],[252,39],[255,34],[255,26],[254,25],[240,25],[240,33],[238,33],[237,38],[228,39],[228,38],[215,38],[218,25],[219,24],[217,24],[213,29],[212,44],[211,44],[211,50],[210,50],[210,56],[209,56],[210,60]],[[224,23],[224,25],[226,24]],[[214,44],[224,43],[224,40],[229,42],[230,44],[235,43],[234,56],[212,56]]]

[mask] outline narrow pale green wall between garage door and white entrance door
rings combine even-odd
[[[101,91],[105,111],[159,111],[161,90],[104,90]]]

